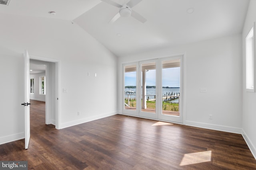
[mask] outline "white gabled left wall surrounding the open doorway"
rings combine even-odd
[[[5,129],[0,143],[14,140],[7,135],[19,139],[16,134],[24,133],[24,49],[60,61],[60,128],[117,113],[117,59],[91,35],[65,20],[1,14],[0,22],[0,78],[7,80],[0,84],[0,126]]]

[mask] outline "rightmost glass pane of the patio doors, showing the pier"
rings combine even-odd
[[[180,116],[180,59],[162,61],[162,115]]]

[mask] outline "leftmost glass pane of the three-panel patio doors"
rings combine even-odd
[[[136,111],[136,64],[124,66],[124,109]]]

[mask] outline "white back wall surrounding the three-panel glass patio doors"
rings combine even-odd
[[[122,96],[122,63],[186,53],[186,125],[241,133],[241,35],[148,51],[119,59],[119,101]],[[208,88],[200,93],[200,88]],[[119,112],[122,104],[119,102]],[[212,115],[213,119],[209,119]]]

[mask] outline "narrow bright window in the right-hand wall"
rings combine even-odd
[[[255,53],[254,53],[254,27],[246,37],[246,90],[255,92]]]

